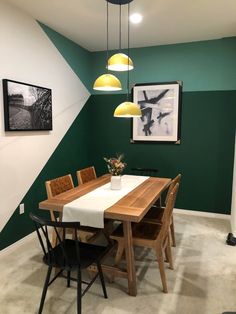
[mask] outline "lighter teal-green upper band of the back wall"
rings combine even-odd
[[[110,52],[112,55],[114,52]],[[130,83],[183,81],[184,91],[236,89],[236,37],[134,48]],[[106,52],[93,52],[92,81],[105,72]],[[126,73],[114,72],[126,92]],[[93,91],[93,94],[101,92]]]

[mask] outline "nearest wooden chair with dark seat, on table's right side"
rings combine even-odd
[[[132,225],[133,245],[152,248],[156,252],[157,262],[159,264],[163,292],[167,293],[167,282],[165,275],[164,256],[167,255],[169,266],[173,269],[173,260],[170,245],[170,224],[171,216],[178,192],[177,183],[169,193],[162,224],[148,223],[141,221]],[[123,224],[121,224],[111,235],[111,238],[118,243],[115,257],[115,265],[118,266],[124,253]]]

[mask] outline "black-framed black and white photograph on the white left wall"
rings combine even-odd
[[[5,131],[52,130],[52,91],[3,80]]]

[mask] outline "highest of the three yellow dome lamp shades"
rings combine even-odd
[[[130,71],[133,70],[133,61],[124,53],[116,53],[108,60],[108,70]]]

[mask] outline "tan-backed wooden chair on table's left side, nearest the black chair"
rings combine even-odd
[[[45,186],[48,198],[52,198],[58,194],[73,189],[74,183],[71,174],[67,174],[65,176],[46,181]],[[53,210],[50,210],[50,216],[52,221],[57,220],[57,217],[55,216],[55,212]],[[62,213],[59,213],[58,220],[62,221]],[[81,230],[79,231],[79,237],[84,242],[91,242],[97,234],[97,229],[94,228],[81,227],[80,229]],[[56,245],[56,234],[54,232],[52,233],[52,242],[54,245]]]

